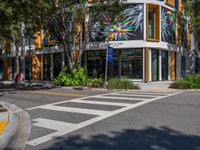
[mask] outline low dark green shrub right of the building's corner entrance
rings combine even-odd
[[[192,84],[191,84],[191,82],[182,79],[182,80],[177,80],[174,83],[172,83],[170,85],[170,88],[175,88],[175,89],[191,89],[192,88]]]

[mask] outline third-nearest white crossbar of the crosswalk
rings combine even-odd
[[[90,100],[73,100],[76,103],[85,103],[85,104],[96,104],[96,105],[110,105],[110,106],[128,106],[127,103],[113,103],[113,102],[102,102],[102,101],[90,101]]]

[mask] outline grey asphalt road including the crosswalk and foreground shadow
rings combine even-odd
[[[26,150],[200,150],[200,92],[12,91],[31,116]]]

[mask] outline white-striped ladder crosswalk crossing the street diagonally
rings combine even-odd
[[[37,137],[35,139],[31,139],[27,144],[30,146],[43,144],[57,137],[66,135],[88,125],[112,117],[116,114],[179,93],[180,92],[148,91],[114,92],[29,108],[27,111],[48,110],[52,111],[52,113],[77,113],[82,115],[92,115],[93,117],[80,123],[59,121],[44,117],[34,118],[32,119],[32,126],[50,129],[54,132],[41,137]]]

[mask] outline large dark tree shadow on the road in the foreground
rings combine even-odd
[[[58,138],[46,150],[200,150],[200,136],[185,135],[172,129],[148,127],[112,132],[112,136],[97,135]]]

